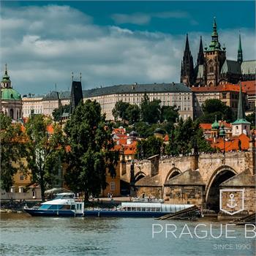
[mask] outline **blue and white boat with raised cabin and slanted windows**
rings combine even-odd
[[[39,207],[24,207],[31,216],[41,217],[82,217],[84,211],[84,203],[82,200],[75,198],[72,192],[64,192],[56,194],[53,200],[41,203]]]

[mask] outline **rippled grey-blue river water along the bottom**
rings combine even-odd
[[[213,236],[218,236],[220,225],[206,219],[185,222],[1,214],[0,255],[255,255],[255,238],[245,237],[244,226],[228,227],[226,237],[222,225],[222,236],[211,237],[210,227]],[[195,236],[196,226],[197,236],[207,235],[205,238]],[[174,227],[176,232],[165,233]]]

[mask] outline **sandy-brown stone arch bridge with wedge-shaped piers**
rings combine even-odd
[[[165,203],[194,203],[218,210],[219,188],[232,177],[244,176],[244,172],[255,177],[255,151],[167,158],[154,156],[134,164],[123,164],[121,180],[135,185],[138,196],[151,195],[163,198]],[[253,187],[252,179],[249,180]],[[248,177],[244,178],[246,186],[247,181]]]

